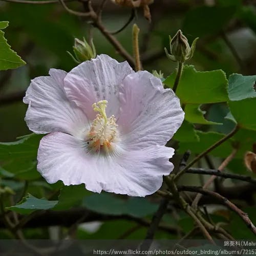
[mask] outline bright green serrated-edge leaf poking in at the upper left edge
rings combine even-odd
[[[8,22],[0,22],[0,29],[5,29]],[[26,64],[16,52],[11,50],[4,37],[5,33],[0,30],[0,70],[16,69]]]

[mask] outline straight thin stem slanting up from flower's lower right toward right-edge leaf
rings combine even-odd
[[[231,138],[234,134],[236,134],[239,130],[239,126],[236,125],[236,127],[234,127],[234,129],[227,134],[226,136],[224,136],[222,139],[220,139],[219,141],[217,141],[216,143],[214,143],[213,145],[211,145],[210,147],[207,148],[207,150],[205,150],[204,152],[202,152],[201,154],[199,154],[197,157],[194,158],[194,160],[192,160],[191,162],[189,162],[187,164],[187,166],[182,169],[179,173],[176,174],[176,177],[174,178],[175,180],[178,180],[194,163],[196,163],[198,160],[200,160],[202,157],[204,157],[205,155],[207,155],[209,152],[211,152],[212,150],[214,150],[216,147],[218,147],[219,145],[221,145],[223,142],[225,142],[226,140],[228,140],[229,138]]]

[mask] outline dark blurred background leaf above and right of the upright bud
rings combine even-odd
[[[218,33],[232,18],[236,7],[200,6],[188,11],[183,22],[185,35],[203,37]]]

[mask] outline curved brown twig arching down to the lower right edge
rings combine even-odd
[[[249,219],[248,215],[244,211],[242,211],[240,208],[238,208],[236,205],[234,205],[232,202],[230,202],[227,198],[221,196],[220,194],[218,194],[214,191],[206,190],[206,189],[203,189],[202,187],[196,187],[196,186],[179,186],[178,190],[179,191],[197,192],[197,193],[201,193],[203,195],[208,195],[208,196],[218,199],[220,202],[222,202],[224,205],[226,205],[229,209],[236,212],[241,217],[241,219],[246,223],[247,227],[254,234],[256,234],[256,227],[253,225],[253,223]]]

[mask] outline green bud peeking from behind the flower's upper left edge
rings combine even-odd
[[[93,40],[91,40],[91,45],[89,45],[84,38],[83,41],[75,38],[73,52],[74,56],[70,52],[68,53],[76,63],[81,63],[83,61],[90,60],[96,57],[96,50],[93,44]]]

